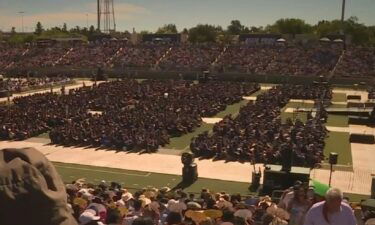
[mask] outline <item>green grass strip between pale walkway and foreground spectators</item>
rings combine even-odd
[[[70,183],[79,178],[87,182],[98,184],[101,180],[115,181],[127,189],[138,190],[147,186],[157,188],[173,188],[181,181],[181,176],[158,173],[112,169],[104,167],[84,166],[77,164],[53,163],[65,183]],[[182,169],[182,168],[181,168]],[[202,188],[212,191],[225,191],[227,193],[250,194],[247,188],[249,183],[222,181],[199,178],[198,181],[187,188],[189,192],[200,192]]]

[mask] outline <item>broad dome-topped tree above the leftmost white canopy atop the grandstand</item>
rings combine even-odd
[[[307,24],[304,20],[287,18],[279,19],[273,25],[267,26],[268,32],[278,32],[281,34],[307,34],[313,31],[310,24]]]

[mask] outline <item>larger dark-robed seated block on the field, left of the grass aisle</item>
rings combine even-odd
[[[257,84],[240,82],[123,80],[63,95],[36,94],[0,107],[0,138],[50,131],[55,144],[153,152],[257,90]]]

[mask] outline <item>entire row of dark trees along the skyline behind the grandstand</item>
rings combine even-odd
[[[211,24],[198,24],[190,29],[184,28],[178,30],[175,24],[166,24],[156,30],[141,31],[140,34],[158,33],[158,34],[188,34],[189,41],[193,43],[203,42],[229,42],[233,35],[239,34],[254,34],[254,33],[278,33],[289,34],[292,36],[298,34],[313,34],[322,37],[330,34],[340,34],[351,36],[352,43],[357,45],[375,46],[375,26],[366,26],[360,23],[357,17],[350,17],[341,23],[340,20],[322,20],[315,25],[306,23],[304,20],[295,18],[279,19],[274,24],[263,26],[245,26],[239,20],[233,20],[230,24],[223,28]],[[68,29],[64,23],[61,27],[53,27],[44,29],[42,24],[36,24],[35,32],[28,35],[19,35],[15,28],[12,29],[12,35],[7,40],[11,43],[31,42],[40,38],[64,38],[64,37],[82,37],[86,40],[92,40],[100,32],[94,26],[87,27],[73,27]],[[130,32],[116,32],[111,35],[129,35]]]

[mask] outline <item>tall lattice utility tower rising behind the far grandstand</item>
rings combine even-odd
[[[97,0],[97,4],[98,30],[107,34],[116,31],[115,6],[113,0]]]

